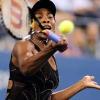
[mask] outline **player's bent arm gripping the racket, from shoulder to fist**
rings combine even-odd
[[[13,50],[13,55],[17,59],[20,71],[25,75],[36,73],[48,59],[57,51],[64,51],[66,41],[61,40],[59,43],[49,43],[40,52],[35,53],[34,44],[29,41],[17,43]]]

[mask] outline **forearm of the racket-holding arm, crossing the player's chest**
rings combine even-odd
[[[45,47],[42,51],[36,55],[31,56],[24,61],[23,67],[25,73],[37,72],[43,65],[48,61],[48,59],[57,51],[55,46]]]

